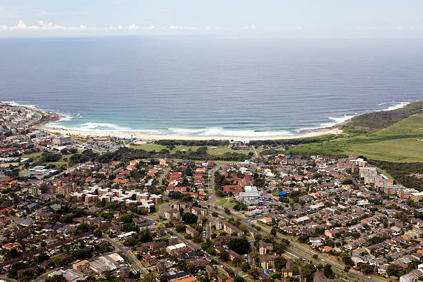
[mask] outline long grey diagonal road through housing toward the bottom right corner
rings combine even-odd
[[[205,203],[200,203],[200,205],[206,205],[206,204]],[[223,216],[223,217],[227,218],[227,214],[225,214],[225,212],[223,211],[223,209],[220,209],[220,207],[215,207],[215,209],[216,209],[216,212],[220,216]],[[264,233],[264,234],[270,235],[270,232],[268,232],[266,229],[263,229],[262,228],[261,231],[259,232],[256,229],[252,228],[250,226],[250,222],[247,220],[247,218],[243,218],[243,217],[238,216],[237,214],[234,214],[234,213],[232,213],[231,216],[234,216],[235,218],[238,218],[239,220],[241,220],[241,223],[243,223],[243,225],[245,226],[245,228],[249,232],[252,232],[253,234],[263,234]],[[277,238],[282,238],[282,237],[279,234],[277,234]],[[303,247],[300,247],[299,245],[297,245],[295,243],[290,243],[290,245],[292,247],[294,247],[295,249],[297,249],[297,250],[299,250],[301,252],[304,252],[304,253],[306,253],[306,254],[308,254],[310,256],[313,256],[314,255],[314,252],[310,252],[309,250],[306,250]],[[301,256],[301,254],[299,254],[297,252],[292,252],[292,255],[297,256],[297,257],[300,257],[300,258],[303,258],[303,256]],[[306,259],[306,258],[303,258],[303,259]],[[334,268],[336,268],[336,269],[341,270],[342,272],[344,272],[344,266],[343,265],[339,265],[337,263],[333,263],[332,261],[325,261],[323,259],[320,259],[319,257],[317,258],[317,261],[320,261],[323,264],[324,263],[330,264],[330,265],[332,265],[332,267],[334,267]],[[368,281],[368,282],[373,282],[374,281],[373,279],[368,279],[367,276],[364,276],[362,274],[359,274],[358,272],[350,271],[350,272],[348,272],[348,274],[351,275],[351,276],[354,276],[356,279],[361,279],[361,280]],[[352,278],[349,278],[349,277],[348,277],[348,280],[355,281],[355,279],[352,279]]]

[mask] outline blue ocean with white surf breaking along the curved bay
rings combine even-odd
[[[423,100],[423,41],[0,39],[0,100],[89,132],[295,135]]]

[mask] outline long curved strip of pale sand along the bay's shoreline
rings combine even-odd
[[[84,132],[73,131],[68,129],[55,129],[53,127],[43,127],[45,131],[59,135],[91,135],[91,136],[110,136],[119,138],[135,137],[142,140],[277,140],[277,139],[294,139],[294,138],[308,138],[324,134],[340,134],[341,129],[332,127],[330,129],[322,129],[319,131],[310,131],[306,133],[299,133],[298,135],[281,135],[281,136],[266,136],[266,137],[236,137],[236,136],[193,136],[193,135],[154,135],[144,133],[129,133],[129,132]]]

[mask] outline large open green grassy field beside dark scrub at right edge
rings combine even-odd
[[[384,129],[349,138],[303,144],[290,153],[329,156],[362,155],[391,162],[423,162],[423,113],[396,122]]]

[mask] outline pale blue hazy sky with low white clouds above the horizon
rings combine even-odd
[[[423,38],[422,0],[0,0],[0,37]]]

